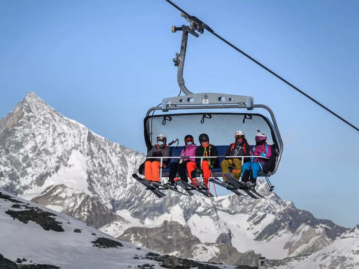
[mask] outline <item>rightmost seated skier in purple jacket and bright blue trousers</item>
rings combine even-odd
[[[255,135],[255,146],[251,150],[251,156],[262,156],[269,158],[272,155],[272,147],[266,142],[267,136],[264,133]],[[242,181],[248,187],[255,187],[255,182],[258,177],[258,172],[262,171],[267,159],[252,157],[250,162],[245,162],[242,165]]]

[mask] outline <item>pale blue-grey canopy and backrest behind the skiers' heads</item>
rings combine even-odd
[[[175,145],[171,147],[171,156],[177,154],[177,157],[179,157],[184,146],[184,137],[191,134],[194,137],[194,142],[198,145],[198,136],[201,133],[207,133],[210,143],[217,147],[218,154],[224,155],[229,144],[234,142],[234,133],[238,130],[244,131],[250,145],[255,144],[255,134],[258,130],[266,133],[267,143],[275,144],[278,150],[275,168],[269,175],[274,174],[283,151],[283,143],[272,122],[262,114],[249,112],[163,113],[148,115],[144,119],[144,135],[147,148],[150,149],[156,143],[157,134],[164,133],[167,135],[168,141],[178,138],[180,147],[175,147]],[[221,162],[221,160],[219,161]],[[220,171],[218,171],[218,174],[220,174]],[[166,175],[167,172],[164,170],[163,176]]]

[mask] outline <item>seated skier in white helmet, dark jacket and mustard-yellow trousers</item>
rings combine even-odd
[[[250,147],[247,143],[243,131],[236,131],[234,134],[235,142],[231,143],[226,150],[225,156],[249,156]],[[244,162],[249,161],[249,158],[245,158]],[[242,172],[242,159],[238,158],[226,158],[221,162],[222,177],[224,181],[228,181],[224,176],[225,173],[229,173],[232,168],[233,177],[239,180]]]

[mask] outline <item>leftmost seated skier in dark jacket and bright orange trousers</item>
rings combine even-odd
[[[146,157],[169,157],[170,148],[166,144],[167,137],[164,134],[157,135],[157,143],[147,153]],[[169,158],[163,158],[163,168],[167,167]],[[145,178],[149,181],[160,182],[159,168],[161,167],[161,158],[147,159],[145,162]]]

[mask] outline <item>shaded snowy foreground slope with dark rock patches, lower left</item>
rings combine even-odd
[[[5,192],[0,192],[0,223],[3,269],[224,267],[159,255]]]

